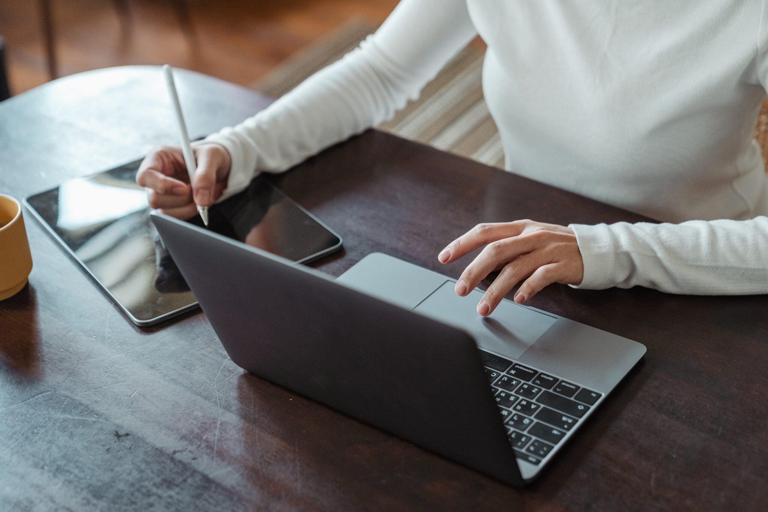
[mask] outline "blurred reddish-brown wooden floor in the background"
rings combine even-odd
[[[353,17],[380,23],[397,0],[187,0],[185,35],[171,0],[51,0],[59,74],[124,64],[171,64],[247,85]],[[13,94],[48,81],[37,0],[2,0]]]

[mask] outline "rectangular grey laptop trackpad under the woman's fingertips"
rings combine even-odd
[[[455,282],[447,281],[413,310],[440,322],[465,329],[482,348],[518,358],[551,327],[557,318],[533,311],[515,302],[502,300],[490,316],[478,315],[483,292],[472,290],[466,297],[454,291]]]

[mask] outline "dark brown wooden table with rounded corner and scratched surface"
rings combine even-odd
[[[266,106],[200,74],[190,134]],[[23,197],[174,142],[157,68],[0,104],[0,192]],[[276,177],[333,226],[339,275],[382,251],[436,259],[480,221],[640,217],[378,131]],[[533,306],[647,345],[533,485],[517,490],[347,418],[227,358],[205,316],[134,327],[26,216],[35,269],[0,302],[0,510],[768,510],[768,297],[550,286]]]

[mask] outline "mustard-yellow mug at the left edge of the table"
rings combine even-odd
[[[31,271],[32,255],[22,205],[0,193],[0,300],[21,291]]]

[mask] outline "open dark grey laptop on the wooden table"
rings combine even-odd
[[[531,481],[644,345],[373,253],[338,279],[153,213],[233,362],[507,484]],[[478,349],[479,348],[479,349]]]

